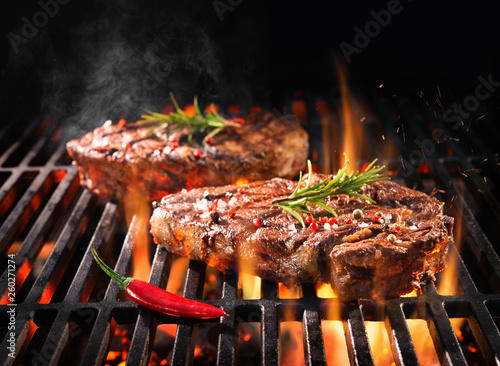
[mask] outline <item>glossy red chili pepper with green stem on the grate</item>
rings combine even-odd
[[[115,280],[125,295],[136,304],[160,313],[184,318],[208,319],[227,315],[218,307],[177,296],[148,282],[132,277],[122,277],[99,258],[94,249],[94,243],[90,245],[90,250],[102,270]]]

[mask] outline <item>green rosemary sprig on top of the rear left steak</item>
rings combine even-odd
[[[207,139],[209,137],[214,137],[228,126],[241,126],[241,124],[231,122],[217,113],[214,104],[211,104],[209,107],[209,111],[203,114],[200,111],[200,107],[198,106],[197,97],[194,97],[193,107],[195,110],[195,114],[193,116],[189,116],[179,107],[179,104],[175,100],[172,93],[170,93],[170,98],[172,99],[172,103],[175,107],[175,111],[173,111],[172,113],[155,113],[146,109],[146,113],[141,116],[140,120],[138,121],[139,123],[158,122],[158,125],[151,127],[147,131],[146,135],[149,135],[156,129],[165,129],[167,127],[171,127],[170,132],[173,132],[179,128],[191,126],[192,129],[188,135],[188,140],[191,141],[193,135],[199,132],[206,132],[207,135],[205,136],[205,139]]]

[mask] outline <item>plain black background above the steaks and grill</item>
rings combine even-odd
[[[221,3],[230,10],[218,14]],[[161,105],[169,91],[185,100],[198,94],[245,104],[285,88],[335,87],[334,55],[345,61],[340,43],[354,45],[354,27],[364,29],[373,20],[370,12],[387,9],[388,3],[71,0],[19,52],[13,52],[8,35],[21,34],[22,18],[32,19],[40,4],[11,3],[1,24],[4,114],[34,105],[63,116],[80,113],[80,119],[82,109],[95,108],[92,118],[100,118],[111,110]],[[377,88],[383,83],[414,95],[440,86],[459,98],[473,93],[479,75],[500,79],[500,22],[494,2],[400,4],[403,10],[344,65],[351,84]],[[128,73],[135,71],[126,59],[116,62],[98,87],[83,87],[94,69],[102,67],[95,60],[110,49],[106,35],[111,30],[134,48],[133,57],[160,44],[152,51],[157,59],[177,58],[155,90],[137,89],[141,86],[130,81]],[[205,38],[200,40],[200,34]],[[155,37],[165,42],[157,43]],[[110,80],[117,81],[116,90]],[[139,96],[132,104],[113,101],[127,93]]]

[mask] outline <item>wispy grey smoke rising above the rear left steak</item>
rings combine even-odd
[[[198,95],[249,104],[265,80],[257,24],[266,22],[240,7],[221,21],[211,2],[73,0],[11,52],[7,69],[35,70],[41,109],[70,135],[137,120],[142,108],[161,111],[169,92],[181,103]]]

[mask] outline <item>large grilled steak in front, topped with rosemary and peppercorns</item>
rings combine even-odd
[[[367,184],[362,193],[376,204],[331,196],[339,216],[317,206],[314,231],[272,204],[296,184],[275,178],[171,194],[155,202],[151,232],[170,252],[222,271],[287,286],[330,282],[346,301],[393,298],[444,269],[453,219],[435,198],[389,181]],[[355,209],[363,218],[353,218]]]

